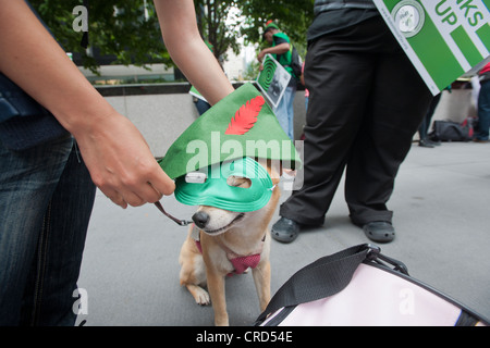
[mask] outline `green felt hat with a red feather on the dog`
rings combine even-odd
[[[283,167],[301,167],[293,142],[252,84],[243,85],[191,124],[159,164],[167,175],[177,178],[244,157],[281,161]]]

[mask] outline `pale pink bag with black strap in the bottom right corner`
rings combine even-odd
[[[372,245],[345,249],[299,270],[256,322],[261,326],[488,324],[467,307],[411,277],[402,262]]]

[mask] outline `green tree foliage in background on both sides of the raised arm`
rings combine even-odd
[[[176,0],[175,0],[176,1]],[[83,33],[73,29],[73,14],[83,0],[30,0],[42,20],[68,52],[82,54],[84,67],[96,71],[97,62],[81,47]],[[198,26],[203,38],[213,46],[217,58],[225,59],[228,49],[240,53],[237,39],[245,44],[260,42],[262,28],[269,20],[293,40],[304,55],[306,30],[313,21],[314,0],[195,0]],[[89,1],[89,47],[100,54],[117,57],[114,63],[145,66],[148,63],[172,65],[167,52],[158,17],[151,0]],[[228,18],[228,20],[226,20]]]

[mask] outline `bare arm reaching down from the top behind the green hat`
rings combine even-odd
[[[215,104],[233,91],[215,55],[200,38],[193,0],[154,0],[163,41],[191,84]]]

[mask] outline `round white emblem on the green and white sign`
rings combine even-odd
[[[400,1],[391,11],[391,16],[405,37],[417,35],[424,26],[424,8],[415,0]]]

